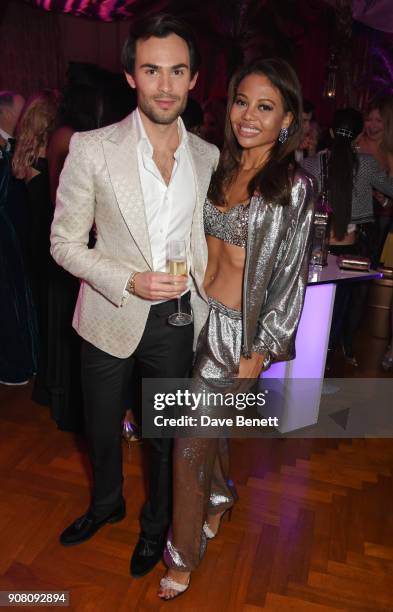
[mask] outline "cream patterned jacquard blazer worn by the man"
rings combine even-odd
[[[134,295],[123,299],[130,274],[152,270],[136,146],[132,115],[108,127],[74,134],[51,231],[53,258],[81,279],[73,327],[97,348],[120,358],[136,349],[150,310],[147,300]],[[190,262],[196,340],[208,312],[203,290],[207,264],[203,204],[219,152],[193,134],[186,146],[197,186]],[[88,249],[93,224],[97,241]]]

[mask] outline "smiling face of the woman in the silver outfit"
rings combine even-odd
[[[284,111],[279,90],[264,74],[249,74],[239,83],[230,120],[243,149],[269,150],[281,128],[290,126],[292,113]]]

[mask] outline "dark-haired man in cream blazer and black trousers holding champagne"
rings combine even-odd
[[[51,233],[56,262],[81,279],[73,325],[83,338],[82,384],[93,467],[90,509],[61,535],[79,544],[125,516],[121,420],[134,365],[144,377],[187,376],[207,316],[203,203],[218,150],[179,118],[197,78],[195,42],[168,15],[136,23],[123,65],[138,108],[120,123],[76,133],[60,178]],[[88,249],[93,224],[97,241]],[[166,249],[185,240],[188,277],[166,272]],[[194,324],[172,327],[182,308]],[[149,495],[131,574],[161,557],[170,522],[171,441],[150,441]]]

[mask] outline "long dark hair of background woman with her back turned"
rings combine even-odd
[[[353,182],[359,168],[359,158],[352,143],[362,129],[363,118],[359,111],[344,108],[334,113],[327,191],[333,234],[337,240],[344,238],[351,221]]]

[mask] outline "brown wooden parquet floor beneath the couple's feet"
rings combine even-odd
[[[381,374],[384,342],[375,343],[362,340],[366,369],[356,375]],[[348,375],[339,362],[336,372]],[[0,385],[0,590],[68,590],[78,612],[393,610],[391,440],[233,440],[232,520],[190,590],[161,602],[164,566],[139,580],[128,569],[144,498],[141,447],[124,449],[124,521],[63,548],[59,533],[89,503],[84,445],[29,397],[28,387]]]

